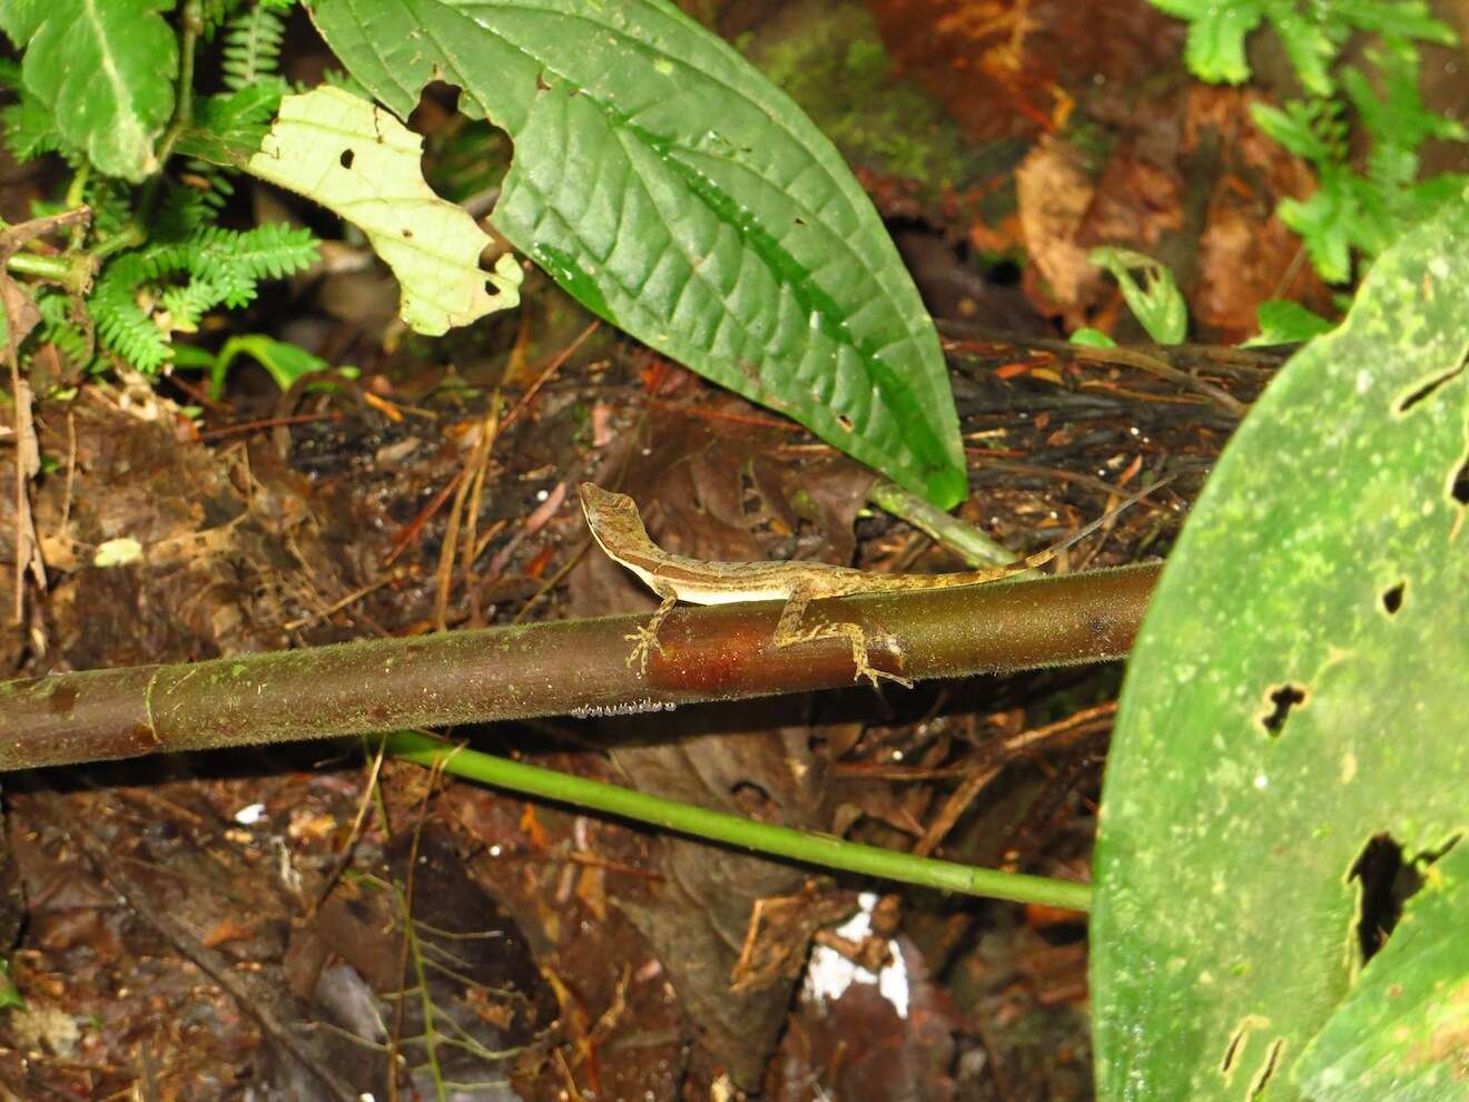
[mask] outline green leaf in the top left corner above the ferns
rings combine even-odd
[[[141,181],[173,113],[175,0],[4,0],[0,28],[25,50],[25,87],[98,172]]]

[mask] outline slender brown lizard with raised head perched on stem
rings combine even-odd
[[[820,623],[808,627],[801,626],[806,605],[826,597],[852,597],[853,594],[892,594],[917,589],[955,589],[965,585],[984,585],[1002,577],[1034,570],[1044,566],[1062,551],[1080,539],[1096,532],[1102,525],[1115,517],[1130,505],[1137,504],[1152,494],[1163,482],[1155,482],[1114,508],[1106,516],[1093,520],[1074,536],[1061,544],[1037,551],[1019,561],[997,566],[989,570],[965,570],[950,575],[883,575],[868,570],[853,570],[846,566],[831,566],[830,563],[718,563],[702,558],[690,558],[664,551],[648,536],[642,517],[638,514],[638,504],[626,494],[614,494],[591,482],[582,483],[582,508],[586,511],[586,523],[592,529],[592,536],[610,558],[621,563],[640,577],[649,589],[663,598],[658,611],[642,627],[638,627],[629,639],[635,639],[627,664],[639,664],[648,669],[648,654],[654,649],[663,651],[658,642],[658,629],[668,613],[679,601],[687,604],[734,604],[739,601],[784,601],[780,610],[780,620],[776,622],[776,632],[771,642],[776,647],[790,647],[792,644],[809,639],[843,638],[852,644],[852,663],[856,673],[852,680],[867,677],[876,688],[878,677],[887,677],[899,685],[911,686],[912,682],[896,673],[874,669],[867,661],[867,632],[855,623]]]

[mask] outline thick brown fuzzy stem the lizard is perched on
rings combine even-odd
[[[1008,673],[1125,655],[1156,576],[1141,566],[852,597],[811,616],[862,624],[871,664],[906,677]],[[845,639],[771,644],[780,607],[676,611],[646,674],[626,664],[638,616],[4,682],[0,770],[849,688]]]

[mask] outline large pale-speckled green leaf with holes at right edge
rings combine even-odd
[[[1469,823],[1465,319],[1469,201],[1291,359],[1169,558],[1103,791],[1102,1099],[1307,1096],[1360,964],[1359,855]]]

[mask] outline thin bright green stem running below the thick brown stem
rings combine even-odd
[[[831,835],[755,823],[721,811],[633,792],[617,785],[604,785],[586,777],[574,777],[473,749],[455,748],[452,743],[419,732],[388,735],[386,749],[398,758],[416,761],[420,766],[432,767],[442,760],[445,773],[511,792],[605,811],[664,830],[676,830],[711,842],[724,842],[826,868],[840,868],[862,876],[918,885],[920,887],[934,887],[942,892],[1061,907],[1068,911],[1087,911],[1091,905],[1089,885],[1025,876],[1024,873],[1002,873],[995,868],[972,868],[952,861],[936,861],[931,857],[914,857],[878,846],[843,842]]]

